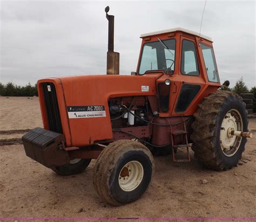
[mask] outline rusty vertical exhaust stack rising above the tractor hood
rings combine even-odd
[[[106,18],[109,20],[109,44],[107,48],[107,70],[108,75],[119,75],[119,52],[114,52],[114,16],[107,14],[109,6],[105,8]]]

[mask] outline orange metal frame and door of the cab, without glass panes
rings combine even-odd
[[[206,44],[206,45],[212,47],[212,42],[207,39],[200,38],[198,36],[193,36],[192,34],[188,34],[188,33],[181,32],[181,31],[173,32],[173,34],[171,34],[171,33],[157,34],[155,36],[151,36],[150,38],[151,38],[150,41],[149,40],[145,41],[144,38],[142,39],[142,46],[140,48],[139,58],[142,56],[141,53],[142,53],[142,48],[143,48],[144,43],[149,43],[151,41],[158,41],[158,38],[160,38],[161,40],[173,39],[173,38],[176,39],[176,60],[175,60],[175,68],[174,68],[173,75],[171,75],[169,77],[169,75],[164,74],[160,78],[157,79],[157,84],[159,82],[164,82],[165,79],[171,80],[169,112],[160,113],[159,115],[161,117],[167,117],[167,116],[171,116],[171,115],[173,115],[173,116],[193,115],[198,108],[198,104],[201,103],[201,101],[203,101],[203,98],[205,96],[208,96],[211,93],[216,92],[217,89],[221,86],[221,84],[218,82],[209,82],[208,81],[207,72],[206,72],[206,68],[205,68],[205,64],[204,64],[204,60],[203,60],[203,53],[201,52],[201,48],[199,47],[199,43],[203,43],[203,44]],[[181,42],[183,39],[191,40],[196,45],[198,66],[199,66],[199,72],[200,72],[198,77],[191,76],[191,75],[183,75],[180,72]],[[139,63],[140,63],[140,60],[138,61],[137,73],[138,73]],[[145,74],[145,75],[149,75],[149,74]],[[174,108],[177,103],[180,88],[185,83],[200,85],[201,89],[200,89],[198,95],[196,96],[196,98],[191,102],[190,106],[188,106],[188,108],[186,109],[185,112],[176,113],[174,111]]]

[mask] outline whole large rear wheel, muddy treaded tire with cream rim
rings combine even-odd
[[[213,170],[227,170],[237,165],[245,150],[246,138],[231,136],[230,130],[248,131],[242,98],[229,91],[218,91],[204,99],[194,117],[191,139],[198,161]]]

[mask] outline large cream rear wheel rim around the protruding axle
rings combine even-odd
[[[242,117],[238,110],[229,110],[220,128],[220,147],[225,156],[231,157],[238,151],[242,137],[231,135],[231,131],[242,131],[242,128]]]

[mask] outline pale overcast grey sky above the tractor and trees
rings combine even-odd
[[[17,85],[67,75],[105,74],[107,19],[114,21],[120,74],[136,71],[140,34],[200,31],[205,1],[1,1],[0,81]],[[256,86],[255,1],[206,2],[201,33],[213,39],[221,83]]]

